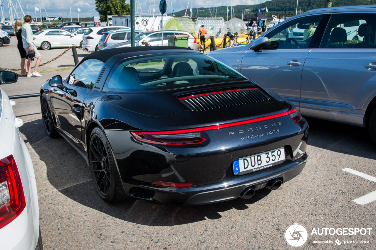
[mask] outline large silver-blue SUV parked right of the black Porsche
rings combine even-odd
[[[305,116],[368,127],[376,143],[376,5],[307,11],[249,45],[208,54]]]

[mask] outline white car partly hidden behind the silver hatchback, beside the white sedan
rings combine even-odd
[[[88,32],[82,37],[82,48],[88,51],[97,51],[99,49],[98,42],[103,35],[103,32],[110,30],[130,30],[125,26],[95,26],[90,27]]]

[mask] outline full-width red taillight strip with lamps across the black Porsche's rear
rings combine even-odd
[[[295,114],[297,113],[297,114]],[[220,128],[236,127],[240,125],[246,125],[255,122],[262,122],[264,120],[270,120],[282,116],[290,115],[294,122],[299,122],[302,119],[296,108],[293,110],[285,111],[279,114],[272,114],[270,116],[259,117],[250,120],[243,120],[240,122],[230,122],[224,124],[218,124],[213,126],[207,126],[202,128],[188,128],[183,130],[172,130],[172,131],[156,131],[156,132],[139,132],[132,131],[132,135],[141,142],[149,142],[161,145],[187,145],[187,144],[198,144],[204,142],[206,139],[200,137],[202,131],[217,130]],[[294,115],[294,116],[293,116]],[[300,116],[300,119],[295,117]]]

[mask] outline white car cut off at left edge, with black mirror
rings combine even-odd
[[[14,83],[17,74],[0,71],[0,83]],[[6,250],[41,250],[39,207],[29,150],[8,96],[0,89],[0,242]]]

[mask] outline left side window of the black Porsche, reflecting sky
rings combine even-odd
[[[92,89],[103,68],[104,63],[97,59],[82,62],[68,77],[67,82],[77,87]]]

